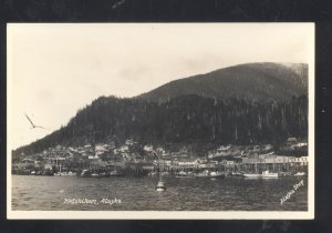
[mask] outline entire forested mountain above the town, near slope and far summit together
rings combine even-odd
[[[98,98],[66,126],[14,153],[126,139],[271,143],[307,135],[307,64],[240,64],[176,80],[136,98]]]

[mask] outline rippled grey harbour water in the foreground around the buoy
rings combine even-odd
[[[12,175],[12,210],[307,211],[307,179],[290,199],[280,203],[280,199],[302,179],[168,176],[165,178],[166,192],[156,192],[158,179],[151,176],[83,179]],[[91,200],[97,203],[75,203]]]

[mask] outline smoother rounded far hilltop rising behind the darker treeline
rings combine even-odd
[[[138,95],[148,101],[197,94],[249,101],[286,101],[308,93],[308,65],[302,63],[247,63],[166,83]]]

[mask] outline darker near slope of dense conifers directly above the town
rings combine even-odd
[[[308,134],[308,97],[284,102],[218,100],[197,95],[164,103],[102,97],[80,110],[66,126],[15,154],[62,145],[134,139],[141,143],[277,143]]]

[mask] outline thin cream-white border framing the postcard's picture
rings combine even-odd
[[[303,24],[299,22],[300,24]],[[314,23],[308,26],[312,38],[308,44],[309,62],[309,169],[308,211],[13,211],[11,184],[11,95],[12,95],[12,40],[11,24],[7,26],[7,219],[10,220],[313,220],[314,219]],[[77,23],[79,24],[79,23]],[[195,24],[195,23],[190,23]],[[198,23],[199,24],[199,23]],[[208,26],[209,23],[205,23]],[[240,23],[228,23],[240,24]],[[276,24],[276,23],[271,23]],[[280,24],[280,23],[277,23]],[[297,24],[297,23],[287,23]]]

